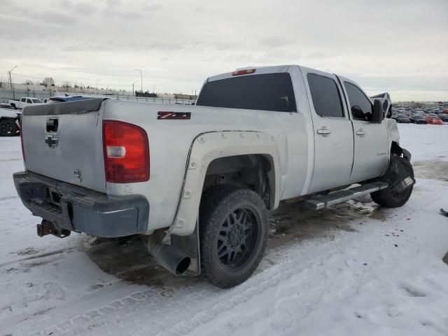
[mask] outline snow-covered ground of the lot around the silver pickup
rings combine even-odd
[[[20,139],[0,138],[0,336],[448,335],[448,125],[399,129],[417,178],[404,207],[283,203],[230,290],[168,274],[141,237],[37,237],[11,179]]]

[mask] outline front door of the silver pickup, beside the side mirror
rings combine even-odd
[[[353,123],[355,154],[350,183],[372,179],[388,167],[389,148],[386,123],[372,123],[373,104],[353,81],[339,77],[349,103]]]

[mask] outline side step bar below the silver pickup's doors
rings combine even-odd
[[[330,193],[328,195],[311,198],[310,200],[302,202],[301,206],[311,210],[320,210],[337,203],[351,200],[352,198],[358,196],[370,194],[381,189],[386,189],[387,187],[388,184],[384,182],[363,184],[363,186],[357,186],[346,190],[336,191],[335,193]]]

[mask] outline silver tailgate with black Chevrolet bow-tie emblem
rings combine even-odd
[[[102,101],[25,108],[22,140],[27,170],[104,193]]]

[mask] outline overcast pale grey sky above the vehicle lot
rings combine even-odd
[[[0,79],[200,90],[300,64],[398,100],[448,100],[448,0],[0,0]],[[136,83],[139,87],[140,82]]]

